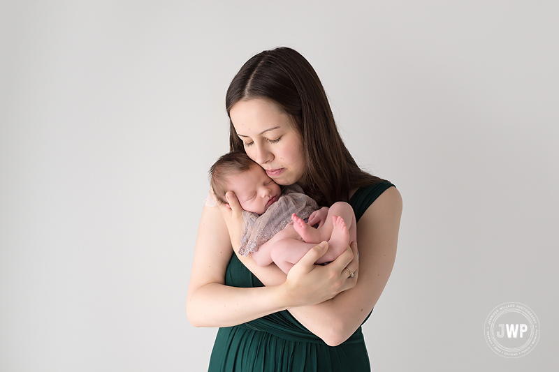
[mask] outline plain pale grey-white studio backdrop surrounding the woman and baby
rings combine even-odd
[[[0,370],[207,368],[216,329],[184,311],[207,170],[233,75],[279,45],[402,193],[373,370],[556,368],[558,2],[191,3],[1,3]],[[520,359],[484,340],[504,302],[541,322]]]

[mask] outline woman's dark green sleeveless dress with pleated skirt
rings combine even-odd
[[[349,200],[356,220],[391,186],[394,185],[389,181],[382,181],[358,188]],[[263,286],[236,255],[227,266],[225,284],[240,288]],[[333,347],[312,334],[289,311],[279,311],[242,325],[219,328],[208,371],[361,372],[370,371],[370,364],[361,327]]]

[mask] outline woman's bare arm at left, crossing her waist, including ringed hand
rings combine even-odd
[[[232,254],[228,230],[219,208],[205,206],[187,294],[189,321],[196,327],[230,327],[289,307],[333,298],[352,285],[344,283],[341,276],[325,278],[324,271],[317,270],[313,263],[324,253],[326,246],[312,248],[287,279],[277,267],[267,267],[266,278],[276,285],[227,286],[224,278]]]

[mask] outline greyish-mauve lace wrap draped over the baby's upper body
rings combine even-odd
[[[319,209],[317,202],[303,193],[298,185],[286,186],[277,201],[270,205],[261,216],[249,211],[242,211],[245,219],[245,232],[240,237],[239,254],[248,255],[272,239],[291,222],[291,214],[306,220],[313,211]]]

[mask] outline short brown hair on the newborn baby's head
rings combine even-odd
[[[210,185],[218,202],[226,203],[228,177],[246,172],[256,165],[244,152],[231,151],[221,156],[210,168]]]

